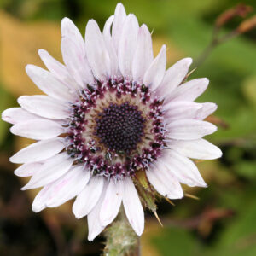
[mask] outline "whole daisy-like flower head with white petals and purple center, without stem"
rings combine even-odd
[[[89,20],[84,41],[64,18],[61,33],[65,65],[40,49],[49,71],[26,66],[46,95],[20,96],[20,108],[3,112],[12,133],[38,141],[10,158],[23,164],[15,174],[32,176],[23,190],[43,187],[32,203],[34,212],[76,197],[73,213],[87,215],[90,241],[113,222],[121,204],[140,236],[142,189],[148,196],[157,191],[182,198],[180,183],[207,186],[189,158],[221,156],[202,139],[216,131],[203,119],[217,107],[194,102],[208,80],[185,82],[190,58],[166,70],[166,46],[154,58],[148,27],[126,15],[121,3],[103,32]],[[143,182],[138,173],[145,174]]]

